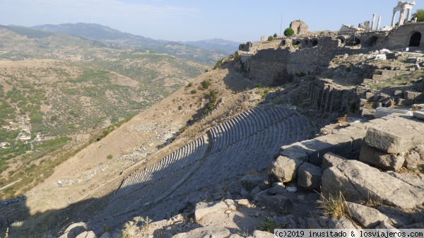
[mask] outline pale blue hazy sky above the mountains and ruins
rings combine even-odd
[[[395,0],[0,0],[0,25],[97,23],[162,40],[222,38],[236,42],[280,34],[292,20],[309,29],[338,30],[382,16],[390,25]],[[413,12],[424,8],[416,0]],[[376,25],[377,25],[376,18]],[[399,12],[396,15],[396,22]]]

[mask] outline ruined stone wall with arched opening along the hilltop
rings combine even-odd
[[[249,76],[263,85],[279,85],[290,81],[296,73],[321,73],[335,56],[367,54],[380,49],[410,51],[424,49],[424,23],[408,23],[387,31],[358,30],[346,26],[338,35],[294,36],[281,40],[280,47],[254,52],[240,49]],[[250,49],[257,49],[255,44]],[[389,56],[389,55],[388,55]],[[389,58],[387,58],[389,59]],[[266,70],[257,70],[266,69]],[[264,73],[266,72],[266,73]]]

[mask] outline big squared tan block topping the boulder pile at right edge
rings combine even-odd
[[[422,123],[399,117],[368,128],[365,143],[386,153],[400,153],[424,143],[423,131]]]

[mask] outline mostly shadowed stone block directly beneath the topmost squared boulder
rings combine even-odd
[[[359,160],[376,165],[382,169],[399,170],[404,165],[405,159],[401,155],[385,153],[377,150],[366,143],[360,149]]]

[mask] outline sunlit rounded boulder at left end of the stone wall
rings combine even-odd
[[[271,173],[279,182],[290,182],[296,178],[298,168],[302,163],[302,160],[278,156],[272,164]]]

